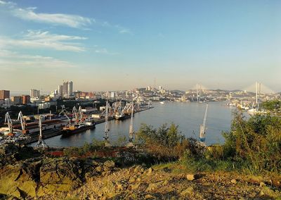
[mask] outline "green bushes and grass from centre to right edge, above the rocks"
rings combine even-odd
[[[195,139],[183,137],[174,124],[158,129],[142,125],[137,133],[138,145],[159,159],[178,159],[190,170],[281,174],[281,118],[277,115],[245,119],[242,113],[234,113],[231,129],[223,137],[225,144],[204,148]]]

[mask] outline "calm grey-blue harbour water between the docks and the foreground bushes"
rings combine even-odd
[[[203,121],[206,104],[167,102],[165,104],[154,103],[155,108],[141,113],[136,113],[133,118],[134,130],[137,131],[141,123],[159,127],[164,123],[174,122],[179,125],[179,130],[186,137],[198,138],[200,124]],[[207,144],[223,143],[222,131],[230,130],[232,108],[222,106],[221,102],[209,103],[207,113]],[[110,141],[116,141],[122,136],[128,136],[130,119],[123,121],[111,120]],[[67,138],[61,136],[46,139],[49,146],[83,146],[85,142],[91,143],[93,139],[102,140],[104,123],[96,125],[95,130],[86,130]]]

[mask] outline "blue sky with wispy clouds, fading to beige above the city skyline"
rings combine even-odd
[[[0,89],[281,91],[281,1],[0,0]]]

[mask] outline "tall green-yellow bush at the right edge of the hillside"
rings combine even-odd
[[[281,118],[254,115],[245,120],[235,113],[230,132],[224,132],[224,159],[244,162],[253,171],[281,173]]]

